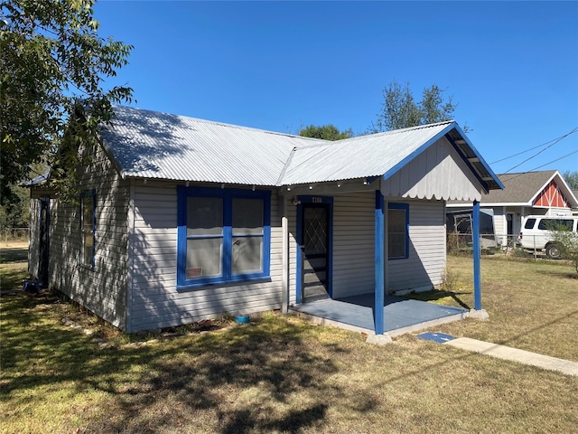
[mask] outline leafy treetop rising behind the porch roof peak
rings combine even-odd
[[[409,83],[402,87],[393,80],[384,88],[383,98],[378,119],[369,127],[369,133],[451,120],[454,110],[458,107],[452,102],[452,96],[448,99],[443,98],[443,90],[436,84],[424,89],[422,100],[415,102]],[[471,131],[465,125],[463,129]]]

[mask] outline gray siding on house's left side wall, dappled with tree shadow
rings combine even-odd
[[[79,204],[51,200],[50,286],[125,329],[128,185],[101,147],[85,155],[91,162],[80,189],[95,189],[97,197],[95,269],[79,264]]]

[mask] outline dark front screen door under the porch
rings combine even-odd
[[[303,203],[303,303],[329,296],[329,213],[326,203]]]

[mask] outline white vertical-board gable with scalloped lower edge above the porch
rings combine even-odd
[[[480,201],[481,185],[443,137],[382,184],[385,196]]]

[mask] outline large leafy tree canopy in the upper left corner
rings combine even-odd
[[[95,2],[0,0],[2,193],[39,162],[75,185],[79,144],[98,137],[113,103],[132,99],[126,86],[103,89],[133,47],[98,36]]]

